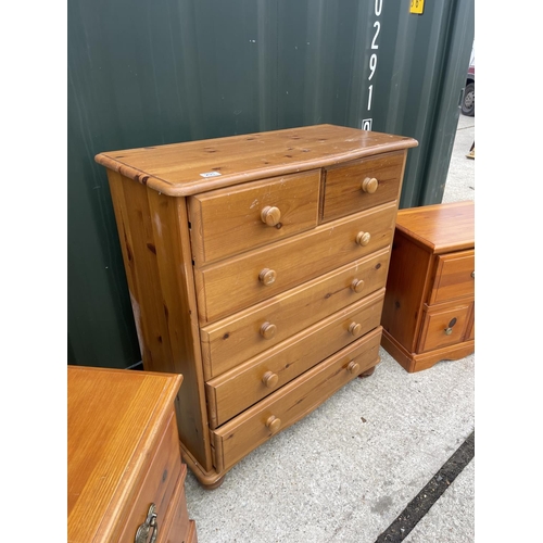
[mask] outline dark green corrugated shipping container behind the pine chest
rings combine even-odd
[[[419,141],[401,207],[442,200],[473,0],[71,0],[67,15],[68,364],[141,361],[102,151],[352,126]]]

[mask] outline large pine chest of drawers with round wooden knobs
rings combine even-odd
[[[147,370],[207,487],[378,363],[412,138],[318,125],[106,152]]]

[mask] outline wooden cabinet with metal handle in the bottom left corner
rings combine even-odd
[[[174,408],[181,381],[68,366],[68,543],[197,542]]]

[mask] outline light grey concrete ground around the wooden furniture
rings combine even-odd
[[[443,202],[475,200],[475,117],[460,115]],[[203,490],[199,543],[374,543],[475,430],[475,355],[407,374],[381,364]],[[475,541],[475,459],[404,541]],[[400,540],[387,540],[400,541]]]

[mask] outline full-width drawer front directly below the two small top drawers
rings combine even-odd
[[[395,203],[386,204],[266,249],[194,269],[201,324],[231,315],[388,247]]]

